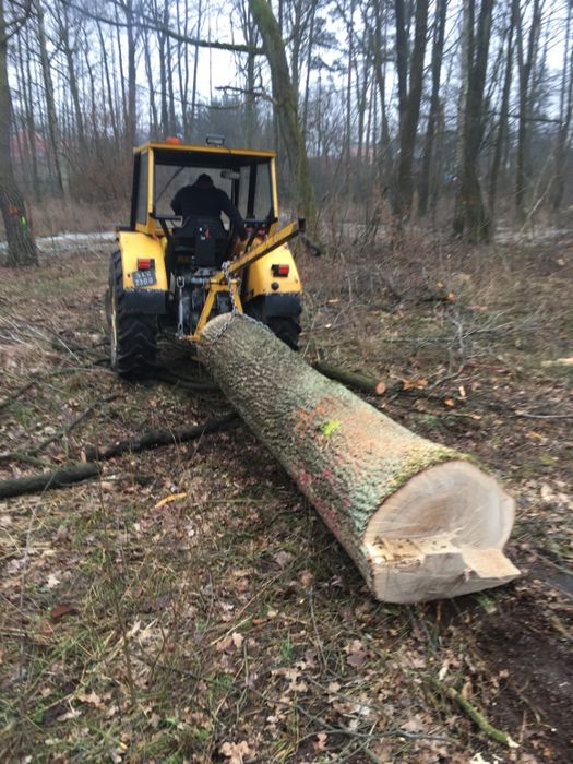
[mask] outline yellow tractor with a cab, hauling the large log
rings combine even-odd
[[[287,242],[303,220],[278,229],[276,152],[229,148],[220,136],[206,145],[176,139],[134,150],[129,226],[117,229],[106,312],[111,367],[138,377],[154,363],[159,329],[200,342],[207,321],[244,312],[297,348],[301,285]],[[232,223],[170,207],[176,193],[207,174],[244,219]]]

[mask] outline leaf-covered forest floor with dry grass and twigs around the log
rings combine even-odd
[[[111,373],[107,268],[102,249],[2,271],[0,479],[228,410]],[[573,355],[573,238],[420,236],[300,271],[305,356],[384,379],[373,405],[504,481],[523,575],[375,602],[244,426],[117,457],[0,502],[1,761],[571,761],[572,367],[554,361]],[[160,360],[204,379],[168,337]]]

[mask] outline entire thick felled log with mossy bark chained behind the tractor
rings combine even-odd
[[[251,319],[213,319],[201,354],[378,599],[453,597],[518,575],[502,552],[513,500],[467,456],[395,423]]]

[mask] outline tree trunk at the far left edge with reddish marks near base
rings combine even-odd
[[[0,0],[0,208],[8,240],[8,264],[37,265],[34,234],[10,159],[12,102],[8,81],[8,39],[4,0]]]

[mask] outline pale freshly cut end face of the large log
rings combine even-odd
[[[467,462],[419,473],[368,524],[374,596],[419,602],[506,584],[520,575],[502,552],[513,518],[513,499]]]

